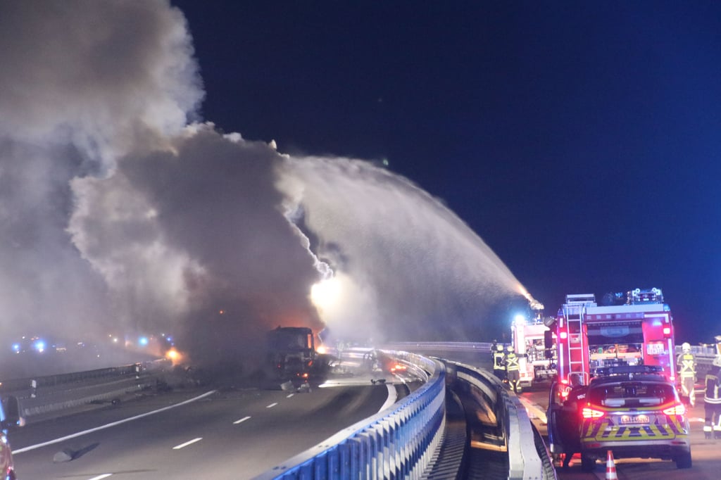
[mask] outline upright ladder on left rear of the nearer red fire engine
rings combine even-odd
[[[568,334],[568,347],[565,355],[567,367],[567,380],[572,375],[580,375],[583,383],[588,383],[588,372],[585,371],[585,357],[588,356],[588,339],[583,333],[583,314],[588,306],[596,306],[596,295],[593,293],[579,293],[566,295],[563,306],[566,319],[566,332]]]

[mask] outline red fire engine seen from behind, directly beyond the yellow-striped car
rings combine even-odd
[[[616,293],[598,306],[593,294],[567,295],[554,322],[558,378],[582,383],[597,368],[611,365],[658,365],[669,381],[676,379],[673,317],[659,288]],[[624,301],[618,304],[619,301]]]

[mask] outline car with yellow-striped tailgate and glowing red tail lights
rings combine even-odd
[[[596,373],[588,386],[575,386],[570,394],[559,394],[567,392],[562,383],[552,386],[547,412],[552,453],[580,453],[583,471],[593,471],[609,450],[614,458],[660,458],[691,468],[686,407],[661,368],[621,365]]]

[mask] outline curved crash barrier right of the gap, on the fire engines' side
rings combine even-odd
[[[443,360],[448,375],[469,383],[494,406],[505,435],[508,479],[555,479],[555,471],[541,435],[534,429],[526,409],[495,375],[486,370]]]

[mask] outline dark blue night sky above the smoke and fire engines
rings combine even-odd
[[[553,314],[662,288],[721,334],[721,4],[197,2],[203,119],[388,159]]]

